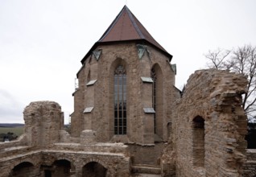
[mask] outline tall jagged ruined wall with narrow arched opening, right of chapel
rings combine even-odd
[[[176,176],[242,176],[246,160],[245,76],[200,70],[176,102],[171,142]]]

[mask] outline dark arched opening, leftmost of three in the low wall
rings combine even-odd
[[[35,167],[32,163],[23,162],[16,165],[10,171],[10,177],[27,177],[27,176],[36,176]]]

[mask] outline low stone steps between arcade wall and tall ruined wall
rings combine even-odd
[[[131,172],[134,176],[161,176],[161,167],[146,165],[146,164],[136,164],[131,166]]]

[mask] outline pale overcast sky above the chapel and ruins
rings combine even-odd
[[[0,122],[46,100],[68,122],[81,59],[124,5],[173,56],[177,88],[207,51],[256,45],[255,0],[0,0]]]

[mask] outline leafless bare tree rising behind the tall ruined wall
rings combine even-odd
[[[248,78],[248,93],[243,97],[242,108],[248,117],[256,119],[256,47],[245,45],[234,50],[209,51],[208,67],[242,73]]]

